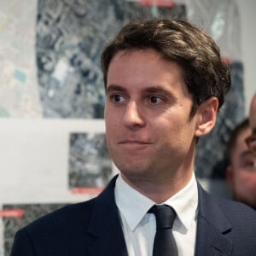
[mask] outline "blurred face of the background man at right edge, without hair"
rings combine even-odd
[[[247,148],[245,139],[252,134],[250,128],[242,131],[231,156],[230,184],[234,199],[256,209],[256,155]]]

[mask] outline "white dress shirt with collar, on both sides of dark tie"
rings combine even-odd
[[[152,256],[155,235],[154,201],[125,183],[119,175],[114,189],[129,256]],[[198,191],[195,174],[189,183],[163,204],[177,212],[172,232],[179,256],[195,255]]]

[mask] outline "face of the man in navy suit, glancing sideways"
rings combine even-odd
[[[108,69],[106,94],[108,149],[126,180],[191,176],[196,121],[176,63],[153,49],[120,51]]]

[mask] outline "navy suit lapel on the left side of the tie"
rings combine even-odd
[[[89,248],[90,256],[128,256],[120,224],[118,208],[114,201],[116,177],[96,199],[87,232],[95,240]]]

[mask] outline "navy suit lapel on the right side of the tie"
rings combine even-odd
[[[197,219],[197,235],[195,256],[231,255],[232,244],[225,236],[230,233],[231,226],[224,213],[198,184],[199,206]]]

